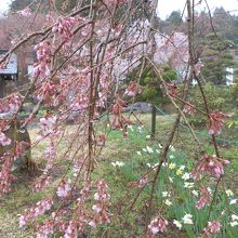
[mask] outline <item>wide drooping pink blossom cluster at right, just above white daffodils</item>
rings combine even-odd
[[[222,158],[217,158],[214,156],[202,156],[196,166],[196,168],[191,171],[191,175],[197,178],[198,173],[209,173],[212,175],[215,175],[216,177],[220,177],[224,174],[224,168],[225,166],[229,164],[228,160],[224,160]]]

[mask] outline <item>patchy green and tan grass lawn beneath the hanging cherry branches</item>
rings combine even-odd
[[[111,223],[104,225],[91,233],[90,237],[142,237],[145,234],[147,201],[150,193],[150,184],[148,184],[138,195],[140,188],[133,184],[141,178],[141,176],[151,167],[159,162],[159,144],[163,144],[167,135],[170,133],[175,116],[157,116],[157,133],[156,140],[149,138],[150,134],[150,115],[137,115],[141,122],[131,116],[134,124],[129,127],[129,136],[124,138],[120,131],[111,131],[108,135],[108,141],[103,149],[101,156],[97,158],[98,168],[93,173],[93,178],[97,180],[104,177],[109,185],[110,214]],[[75,125],[68,125],[68,133],[75,130]],[[30,130],[31,141],[35,141],[37,129]],[[208,154],[214,154],[214,149],[207,136],[206,129],[196,129],[197,136],[204,146]],[[202,134],[200,134],[202,133]],[[232,133],[232,132],[230,132]],[[221,135],[222,137],[222,135]],[[238,140],[238,138],[237,138]],[[67,170],[67,160],[61,158],[65,151],[65,144],[70,142],[70,137],[65,135],[64,143],[58,146],[60,155],[57,156],[57,170],[53,176],[53,184],[43,193],[32,193],[30,189],[32,177],[26,174],[21,174],[18,181],[15,182],[13,190],[0,198],[0,237],[36,237],[32,225],[26,229],[18,228],[17,214],[23,213],[24,209],[30,208],[38,200],[48,197],[52,194],[53,188],[58,183],[61,174]],[[42,153],[48,142],[38,144],[32,148],[32,158],[41,163]],[[220,143],[221,144],[221,143]],[[219,193],[212,217],[216,217],[224,209],[225,203],[232,198],[224,196],[225,189],[230,188],[234,191],[234,198],[238,196],[238,144],[221,144],[221,154],[232,160],[232,164],[227,167],[227,175],[223,181],[223,189]],[[174,149],[173,149],[174,148]],[[184,225],[182,230],[178,230],[172,224],[170,225],[167,235],[162,237],[198,237],[202,228],[207,224],[208,208],[197,211],[194,208],[197,197],[193,196],[193,190],[197,190],[198,185],[191,188],[184,187],[184,180],[182,178],[185,172],[189,172],[193,164],[198,157],[198,149],[189,131],[183,125],[180,127],[175,134],[173,148],[170,149],[168,157],[168,166],[166,166],[158,178],[155,191],[154,215],[160,210],[166,214],[166,217],[171,222],[174,219],[181,221],[185,213],[194,215],[195,226]],[[111,163],[123,162],[122,167],[114,167]],[[184,169],[180,172],[180,168]],[[177,172],[178,171],[178,172]],[[154,177],[155,173],[149,173],[149,180]],[[189,181],[190,183],[193,181]],[[207,178],[204,181],[207,186],[213,189],[214,181]],[[168,191],[170,197],[163,197],[163,191]],[[137,197],[136,202],[134,198]],[[166,200],[172,202],[168,206]],[[236,204],[230,207],[230,211],[237,212]],[[117,215],[114,215],[117,214]],[[238,234],[237,227],[230,227],[229,216],[222,219],[224,228],[223,234],[217,237],[234,237]],[[228,228],[227,228],[228,227]],[[228,229],[228,230],[227,230]],[[57,237],[57,236],[56,236]],[[60,236],[58,236],[60,237]]]

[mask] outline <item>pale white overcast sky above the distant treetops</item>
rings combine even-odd
[[[196,0],[198,2],[199,0]],[[203,0],[202,0],[203,1]],[[238,0],[207,0],[211,10],[215,6],[223,6],[227,11],[238,10]],[[0,0],[0,12],[8,10],[11,0]],[[183,10],[186,0],[159,0],[158,13],[161,18],[166,18],[172,11]],[[203,10],[204,3],[199,5],[197,10]],[[235,12],[234,12],[235,13]],[[238,13],[238,12],[236,12]]]

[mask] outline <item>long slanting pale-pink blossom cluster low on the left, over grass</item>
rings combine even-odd
[[[26,210],[25,214],[19,216],[19,227],[25,226],[29,222],[34,222],[37,216],[44,214],[53,206],[52,199],[38,201],[35,208]]]

